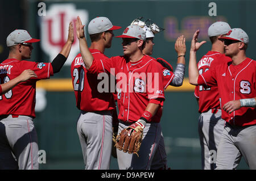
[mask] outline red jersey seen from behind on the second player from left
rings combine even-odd
[[[97,49],[89,50],[94,58],[98,58],[100,60],[108,58]],[[98,84],[102,81],[102,79],[97,79],[97,74],[88,73],[80,53],[76,56],[71,64],[71,77],[76,96],[76,106],[79,108],[79,110],[94,112],[106,110],[110,111],[115,109],[112,93],[109,89],[106,92],[98,91]],[[106,77],[110,78],[108,74],[106,74]],[[111,80],[109,79],[109,82],[110,81]]]

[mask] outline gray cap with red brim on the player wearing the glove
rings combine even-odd
[[[125,28],[122,35],[115,37],[146,40],[146,32],[138,25],[130,25],[129,27]]]

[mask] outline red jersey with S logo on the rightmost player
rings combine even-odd
[[[239,65],[232,62],[215,66],[201,74],[198,84],[218,86],[221,107],[230,100],[255,98],[256,96],[256,62],[246,58]],[[232,113],[222,110],[222,119],[238,126],[256,124],[255,107],[241,107]]]

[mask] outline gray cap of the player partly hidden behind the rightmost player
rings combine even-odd
[[[225,35],[231,30],[226,22],[215,22],[208,28],[208,36]]]

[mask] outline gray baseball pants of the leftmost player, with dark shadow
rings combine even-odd
[[[39,169],[32,117],[0,116],[0,169]]]

